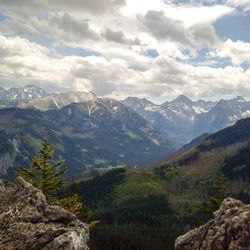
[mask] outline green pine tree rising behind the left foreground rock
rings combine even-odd
[[[62,168],[63,161],[53,162],[53,147],[48,140],[44,140],[37,155],[31,161],[30,167],[20,165],[19,175],[41,189],[47,199],[64,186],[66,168]]]

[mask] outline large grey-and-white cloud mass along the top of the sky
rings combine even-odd
[[[18,1],[0,2],[0,7],[10,15],[0,22],[4,34],[29,39],[52,37],[68,46],[99,53],[107,47],[124,46],[128,49],[140,46],[136,48],[138,51],[152,47],[160,51],[166,42],[170,47],[179,44],[181,49],[199,50],[216,42],[211,22],[233,11],[222,5],[176,6],[163,0],[127,0],[126,3],[124,0],[55,0],[47,4],[27,0],[20,8]],[[100,15],[100,9],[112,12]]]

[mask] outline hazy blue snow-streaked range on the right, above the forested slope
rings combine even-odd
[[[192,101],[181,95],[162,105],[145,98],[128,97],[123,103],[151,121],[177,147],[204,133],[214,133],[250,116],[250,102],[240,96],[212,102]]]

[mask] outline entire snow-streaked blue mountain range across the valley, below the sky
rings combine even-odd
[[[27,163],[42,138],[55,144],[73,175],[96,167],[144,167],[250,116],[250,102],[242,97],[212,102],[181,95],[157,105],[92,92],[46,93],[35,85],[1,88],[0,107],[2,174]]]

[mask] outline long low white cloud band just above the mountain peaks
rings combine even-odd
[[[250,93],[250,69],[228,66],[213,68],[177,62],[167,54],[148,58],[131,52],[121,58],[121,51],[101,56],[54,57],[47,48],[20,38],[0,36],[1,81],[17,84],[40,81],[60,89],[75,86],[98,95],[161,96],[185,93],[211,96],[214,93]],[[124,50],[125,53],[125,50]],[[116,57],[117,56],[117,57]],[[118,58],[119,56],[119,58]],[[143,61],[143,69],[138,70]],[[137,65],[138,64],[138,65]],[[20,83],[21,84],[21,83]],[[247,90],[246,90],[247,88]]]

